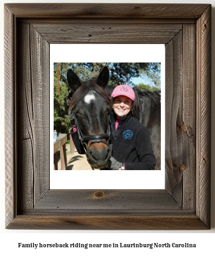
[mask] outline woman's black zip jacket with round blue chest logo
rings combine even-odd
[[[146,127],[131,112],[121,118],[115,132],[115,114],[110,115],[112,157],[125,164],[125,170],[155,170],[156,159]]]

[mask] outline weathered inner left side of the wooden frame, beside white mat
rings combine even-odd
[[[18,29],[19,209],[32,209],[49,189],[49,44],[28,23]]]

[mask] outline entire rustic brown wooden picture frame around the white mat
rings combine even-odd
[[[4,15],[6,228],[210,229],[211,5],[11,3]],[[50,43],[166,45],[165,190],[49,189]]]

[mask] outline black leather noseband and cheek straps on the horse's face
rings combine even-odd
[[[77,117],[75,115],[75,111],[71,110],[70,111],[70,118],[74,119],[75,121],[75,126],[77,128],[77,134],[79,136],[79,140],[81,141],[86,157],[87,157],[87,161],[90,164],[90,166],[92,167],[92,169],[94,170],[92,164],[90,163],[90,159],[89,159],[89,149],[95,144],[95,143],[105,143],[109,148],[109,141],[110,141],[110,116],[108,115],[108,128],[107,128],[107,133],[105,134],[98,134],[98,135],[84,135],[81,132],[79,123],[77,122]],[[105,140],[104,140],[105,139]],[[107,140],[107,141],[106,141]],[[90,143],[90,145],[88,146],[88,141],[92,142]]]

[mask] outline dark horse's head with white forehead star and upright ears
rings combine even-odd
[[[105,168],[110,157],[109,113],[112,107],[110,97],[105,91],[109,80],[109,70],[104,67],[96,81],[80,82],[70,69],[67,72],[68,86],[74,95],[70,110],[76,124],[90,165]]]

